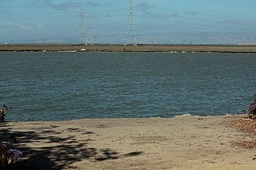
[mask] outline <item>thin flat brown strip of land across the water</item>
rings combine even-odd
[[[256,53],[256,45],[0,45],[0,51]]]

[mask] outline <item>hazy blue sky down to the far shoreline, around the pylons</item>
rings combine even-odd
[[[0,0],[0,43],[65,38],[75,42],[81,11],[86,26],[90,21],[96,42],[107,43],[109,38],[122,42],[129,2]],[[216,42],[216,38],[223,38],[226,43],[246,43],[248,39],[248,43],[256,44],[255,7],[255,0],[134,0],[134,29],[138,43],[168,43],[170,37],[170,43]]]

